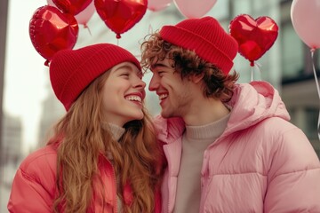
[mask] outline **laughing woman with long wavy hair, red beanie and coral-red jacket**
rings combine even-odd
[[[161,211],[163,154],[141,78],[139,61],[113,44],[56,53],[50,79],[67,114],[21,163],[10,212]]]

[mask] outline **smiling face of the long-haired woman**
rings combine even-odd
[[[126,122],[142,119],[145,87],[141,71],[132,63],[124,62],[111,68],[102,89],[105,120],[124,126]]]

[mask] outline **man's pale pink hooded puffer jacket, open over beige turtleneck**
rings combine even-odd
[[[268,83],[238,84],[227,129],[204,152],[199,212],[320,212],[320,162]],[[179,118],[156,118],[168,170],[163,211],[172,212],[180,168]],[[214,143],[213,143],[214,142]]]

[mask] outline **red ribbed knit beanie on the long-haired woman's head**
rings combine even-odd
[[[93,44],[75,51],[58,51],[50,62],[52,89],[68,111],[94,79],[125,61],[141,69],[132,53],[110,43]]]

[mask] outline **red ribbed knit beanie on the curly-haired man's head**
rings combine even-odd
[[[196,54],[220,67],[228,75],[233,67],[238,44],[212,17],[182,20],[175,26],[164,26],[160,30],[164,41],[196,51]]]

